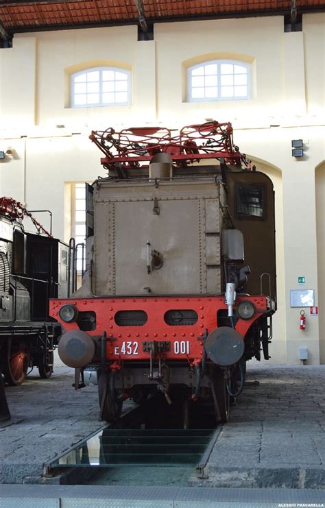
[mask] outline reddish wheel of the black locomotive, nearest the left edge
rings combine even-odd
[[[19,386],[27,375],[30,359],[29,344],[23,339],[8,339],[4,351],[3,375],[10,386]]]

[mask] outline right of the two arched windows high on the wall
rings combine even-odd
[[[237,60],[210,60],[187,69],[188,101],[250,99],[250,65]]]

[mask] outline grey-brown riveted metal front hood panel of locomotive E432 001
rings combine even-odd
[[[129,180],[97,185],[96,295],[221,292],[224,191],[219,183],[208,178],[164,180],[158,186]]]

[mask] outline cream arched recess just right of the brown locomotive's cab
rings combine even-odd
[[[271,178],[275,192],[276,208],[276,285],[278,310],[273,317],[273,338],[269,346],[271,359],[266,363],[286,363],[286,337],[285,337],[285,249],[283,235],[283,193],[282,173],[278,167],[260,158],[248,156],[256,165],[257,171],[262,171]],[[263,361],[265,362],[265,361]]]

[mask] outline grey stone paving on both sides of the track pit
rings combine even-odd
[[[258,383],[254,383],[258,381]],[[252,364],[206,468],[216,487],[325,486],[325,365]],[[28,482],[43,464],[101,428],[97,387],[75,391],[73,370],[7,387],[12,420],[0,424],[0,483]],[[125,409],[131,403],[125,403]]]

